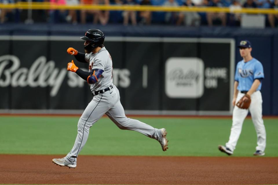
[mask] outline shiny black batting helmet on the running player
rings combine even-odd
[[[81,37],[82,40],[90,41],[84,49],[92,51],[96,47],[103,47],[104,43],[104,34],[99,29],[88,29],[85,33],[85,36]]]

